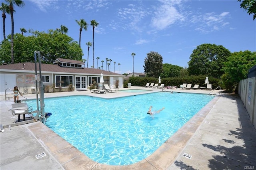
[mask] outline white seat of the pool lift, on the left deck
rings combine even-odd
[[[28,114],[33,117],[32,106],[28,107],[27,103],[13,103],[12,104],[12,115],[18,115],[18,122],[20,121],[20,115],[23,115],[23,121],[25,121],[25,115]]]

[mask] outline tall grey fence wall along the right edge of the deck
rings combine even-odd
[[[250,117],[250,123],[256,128],[256,77],[241,80],[238,84],[238,94]]]

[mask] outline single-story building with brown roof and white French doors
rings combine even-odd
[[[100,75],[102,73],[104,84],[110,85],[110,88],[115,88],[118,80],[118,87],[123,87],[123,77],[125,75],[101,69],[85,68],[83,65],[82,61],[62,58],[57,58],[54,64],[41,63],[41,81],[44,87],[50,87],[49,89],[53,91],[58,88],[61,88],[62,91],[68,91],[70,86],[79,91],[88,89],[93,82],[100,83]],[[13,89],[14,86],[18,86],[20,92],[32,93],[36,87],[36,77],[38,81],[38,77],[40,77],[38,63],[36,68],[37,74],[35,72],[35,63],[0,65],[0,94],[4,95],[5,91],[10,93],[8,89]]]

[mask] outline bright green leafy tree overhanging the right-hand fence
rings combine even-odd
[[[234,52],[224,62],[222,81],[229,91],[234,91],[240,80],[246,79],[248,70],[256,65],[256,52]]]

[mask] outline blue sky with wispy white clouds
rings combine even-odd
[[[4,2],[1,0],[1,2]],[[203,43],[223,45],[234,51],[256,51],[256,20],[240,8],[236,0],[24,0],[23,8],[15,7],[14,33],[20,28],[47,32],[68,28],[67,35],[79,42],[80,27],[75,20],[84,19],[81,47],[87,59],[86,42],[92,42],[91,20],[99,25],[94,33],[94,58],[112,59],[111,71],[120,74],[144,72],[144,59],[150,51],[163,57],[163,63],[188,67],[189,57]],[[6,16],[6,36],[11,34],[10,15]],[[28,36],[25,33],[24,36]],[[1,17],[1,41],[2,17]],[[89,67],[92,66],[92,47]]]

